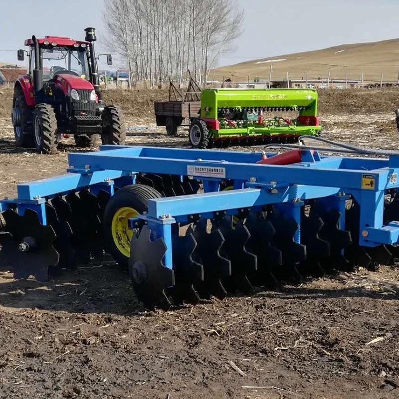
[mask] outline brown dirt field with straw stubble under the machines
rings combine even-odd
[[[187,146],[187,131],[171,139],[156,128],[156,92],[107,95],[125,109],[129,144]],[[16,149],[10,98],[0,89],[1,197],[63,173],[77,150],[71,140],[56,156]],[[323,135],[398,149],[394,114],[385,111],[321,105]],[[398,398],[398,293],[399,269],[381,266],[147,312],[109,258],[47,283],[4,271],[0,398]]]

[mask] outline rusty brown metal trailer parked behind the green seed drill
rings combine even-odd
[[[169,86],[169,101],[155,101],[157,126],[165,126],[168,135],[175,135],[179,126],[190,126],[191,118],[198,117],[201,107],[201,89],[190,78],[186,92],[181,92],[172,82]]]

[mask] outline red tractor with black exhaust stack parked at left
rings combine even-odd
[[[99,90],[95,29],[85,32],[85,41],[60,36],[25,40],[29,70],[15,82],[11,114],[18,147],[54,154],[63,137],[73,135],[78,147],[91,147],[98,134],[103,144],[125,144],[122,111],[106,106]],[[19,61],[24,54],[18,50]],[[103,55],[112,65],[111,54]]]

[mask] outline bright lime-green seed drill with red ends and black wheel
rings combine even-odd
[[[205,89],[189,140],[193,148],[284,144],[320,130],[316,90]]]

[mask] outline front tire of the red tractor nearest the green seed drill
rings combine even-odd
[[[108,105],[101,115],[102,144],[124,145],[126,142],[125,117],[122,110],[116,105]]]

